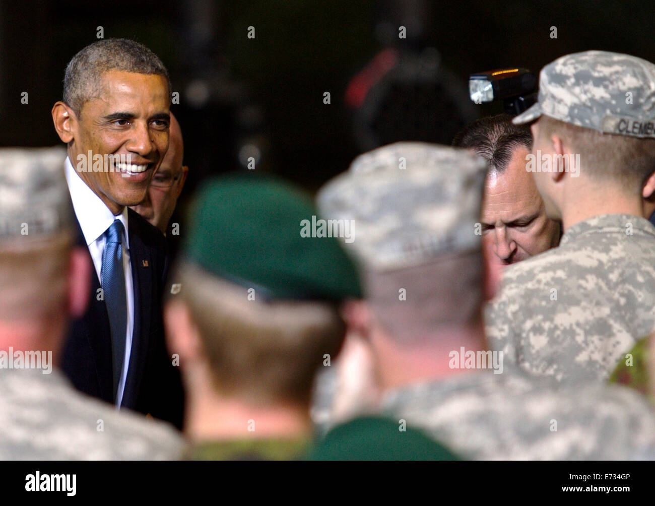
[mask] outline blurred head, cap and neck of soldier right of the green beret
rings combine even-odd
[[[454,372],[449,352],[485,346],[476,224],[486,163],[468,150],[399,142],[361,155],[318,193],[320,212],[354,220],[346,248],[365,302],[348,306],[383,387]]]

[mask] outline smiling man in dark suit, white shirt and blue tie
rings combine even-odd
[[[95,268],[88,310],[64,348],[64,372],[88,395],[181,427],[181,383],[161,319],[166,245],[128,208],[143,201],[168,149],[169,104],[159,58],[134,41],[107,39],[69,62],[52,120],[67,144],[77,243]]]

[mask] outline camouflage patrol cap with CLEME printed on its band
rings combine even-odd
[[[655,65],[628,54],[567,54],[539,74],[538,101],[514,118],[545,114],[607,134],[655,138]]]

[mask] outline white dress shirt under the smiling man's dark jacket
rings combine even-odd
[[[114,220],[121,220],[124,230],[122,237],[122,260],[123,272],[125,274],[125,296],[127,301],[127,328],[125,332],[125,357],[119,389],[116,393],[116,406],[120,407],[123,393],[125,390],[125,381],[127,371],[130,366],[130,353],[132,351],[132,332],[134,331],[134,291],[132,286],[132,265],[130,264],[130,239],[127,227],[127,207],[118,216],[100,200],[90,187],[82,180],[69,158],[66,158],[66,182],[68,190],[71,193],[75,216],[80,224],[84,241],[96,267],[98,281],[102,282],[100,269],[102,268],[102,254],[105,251],[105,232]]]

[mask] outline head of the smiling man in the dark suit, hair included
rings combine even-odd
[[[54,128],[79,176],[114,214],[145,198],[168,149],[169,106],[168,71],[140,43],[103,39],[66,67]]]

